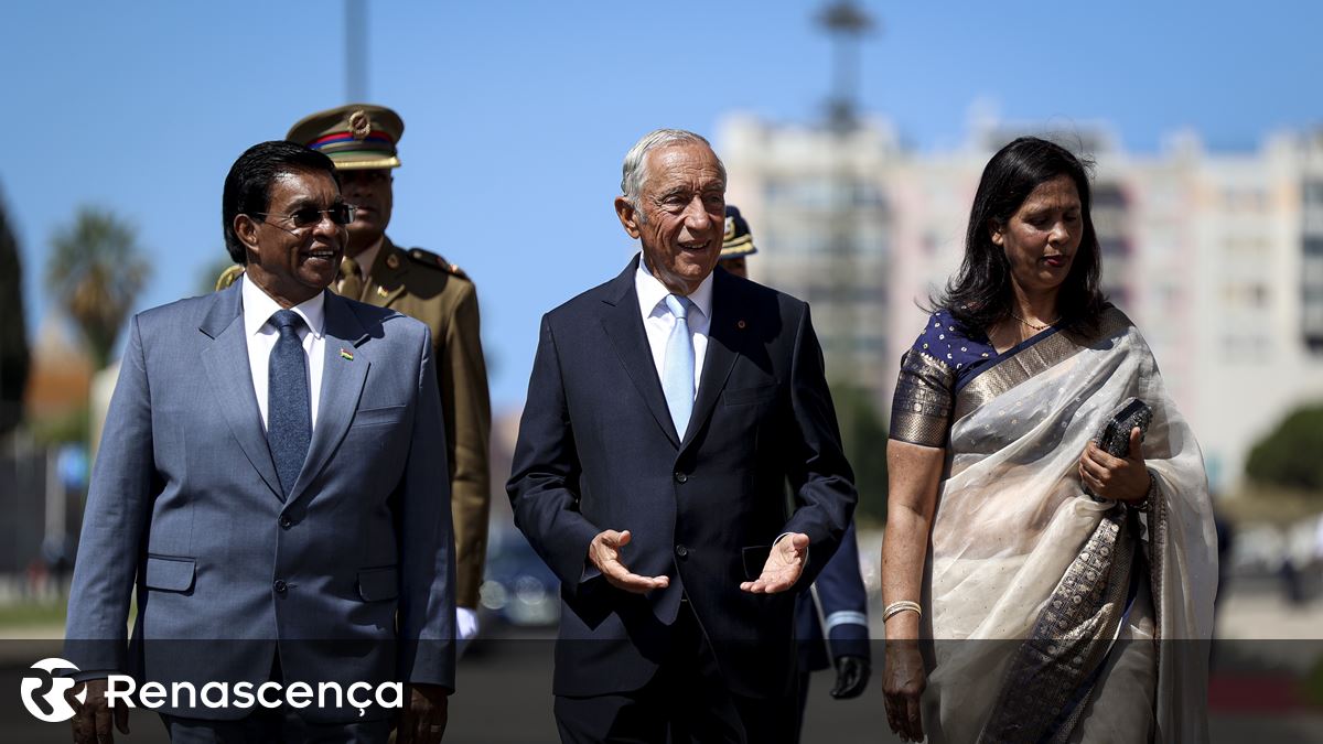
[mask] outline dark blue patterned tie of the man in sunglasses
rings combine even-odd
[[[280,338],[275,340],[267,365],[266,441],[275,459],[280,487],[288,496],[312,441],[308,363],[299,340],[303,318],[292,310],[278,310],[271,316],[271,324]]]

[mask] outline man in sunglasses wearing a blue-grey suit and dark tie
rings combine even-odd
[[[69,600],[77,741],[127,732],[120,673],[290,691],[275,710],[169,698],[173,741],[385,741],[393,707],[400,741],[441,740],[455,600],[431,342],[325,291],[352,217],[324,155],[254,146],[222,205],[243,279],[132,319]],[[320,696],[392,682],[365,710]]]

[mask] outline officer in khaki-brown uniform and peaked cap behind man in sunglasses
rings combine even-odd
[[[478,631],[478,588],[487,556],[491,506],[487,364],[472,281],[441,256],[421,248],[400,248],[386,236],[393,204],[392,169],[400,167],[396,148],[404,131],[404,120],[390,109],[351,103],[303,118],[290,127],[286,139],[329,156],[340,173],[344,200],[356,207],[340,278],[332,289],[344,297],[398,310],[431,328],[450,450],[456,633],[466,639]]]

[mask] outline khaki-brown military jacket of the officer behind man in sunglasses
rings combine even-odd
[[[491,507],[491,400],[474,282],[445,258],[401,249],[385,237],[364,277],[363,297],[353,299],[397,310],[431,328],[450,462],[455,601],[476,608]]]

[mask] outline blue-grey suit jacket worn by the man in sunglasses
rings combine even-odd
[[[279,654],[284,680],[314,688],[454,688],[450,486],[427,327],[327,293],[320,413],[284,498],[241,304],[234,285],[132,319],[83,515],[69,661],[201,687],[261,684]]]

